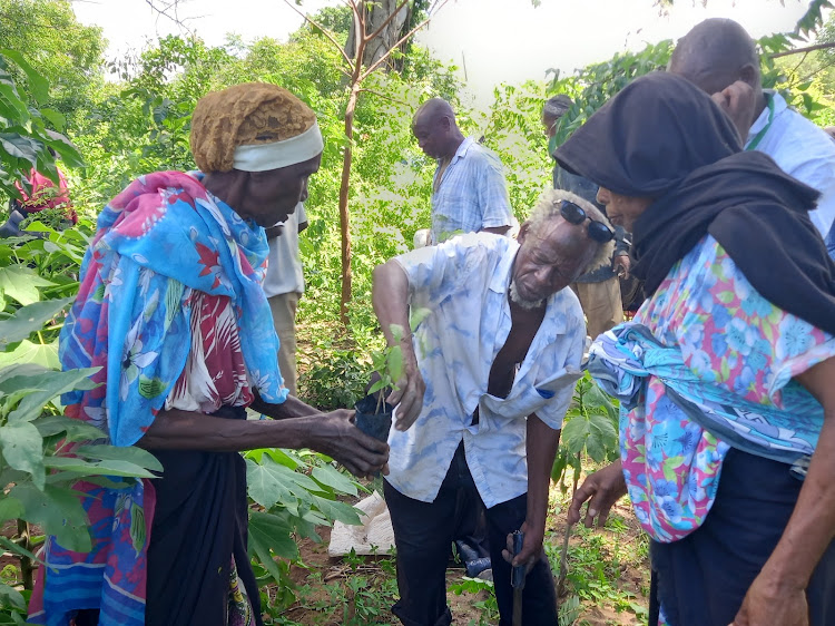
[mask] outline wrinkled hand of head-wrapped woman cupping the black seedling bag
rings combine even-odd
[[[389,444],[369,437],[354,426],[354,411],[337,409],[316,422],[316,450],[333,457],[360,478],[389,473]]]

